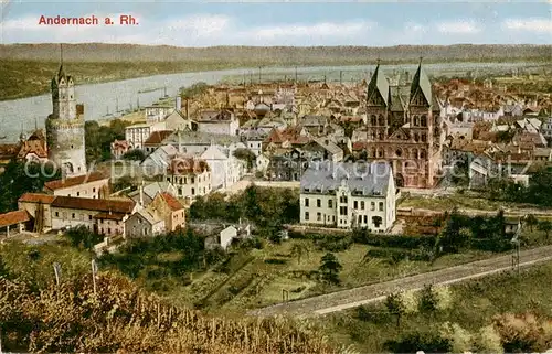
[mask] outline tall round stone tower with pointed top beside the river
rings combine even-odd
[[[52,114],[46,119],[49,159],[63,175],[86,173],[84,109],[76,104],[75,83],[65,74],[63,61],[52,78]]]

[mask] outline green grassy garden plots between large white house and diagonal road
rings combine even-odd
[[[297,257],[290,254],[294,244],[304,244],[309,248],[308,255],[304,255],[300,262]],[[443,256],[433,264],[421,260],[393,261],[384,257],[372,258],[363,262],[364,255],[369,249],[381,248],[353,244],[349,249],[336,253],[343,267],[339,276],[341,285],[330,286],[311,276],[314,272],[316,273],[320,266],[320,258],[327,253],[316,249],[311,240],[291,239],[280,245],[266,245],[262,250],[251,251],[255,259],[234,273],[232,281],[227,281],[211,296],[209,309],[243,313],[247,309],[282,302],[283,290],[288,291],[289,300],[295,300],[442,269],[492,255],[491,253],[470,250],[465,254]],[[275,259],[278,261],[275,262]],[[208,272],[201,278],[197,278],[189,286],[187,292],[198,297],[198,293],[209,289],[204,286],[205,283],[214,285],[225,280],[225,278],[224,280],[220,278],[219,273]],[[232,289],[234,293],[229,294],[227,291],[231,287],[234,287]],[[238,291],[236,292],[236,290]]]

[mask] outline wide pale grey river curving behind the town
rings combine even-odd
[[[512,67],[527,67],[528,63],[446,63],[446,64],[426,64],[425,71],[429,75],[437,73],[453,73],[467,71],[508,71]],[[415,65],[385,65],[382,66],[385,72],[401,69],[414,71]],[[71,67],[66,68],[71,75]],[[373,65],[368,66],[315,66],[299,67],[300,78],[318,77],[328,74],[328,77],[339,77],[339,72],[344,71],[349,76],[358,75],[359,78],[365,77],[365,74],[373,71]],[[295,67],[286,68],[263,68],[267,76],[274,74],[295,74]],[[77,85],[75,88],[77,103],[84,104],[84,116],[86,120],[100,119],[107,112],[114,114],[116,107],[125,110],[136,107],[138,101],[140,106],[151,105],[166,93],[169,96],[178,94],[182,86],[190,86],[197,82],[215,84],[229,76],[250,77],[251,73],[254,82],[258,78],[258,68],[256,69],[226,69],[200,73],[181,73],[156,75],[140,78],[124,79],[118,82]],[[358,74],[355,74],[358,73]],[[54,75],[54,73],[52,73]],[[317,76],[318,75],[318,76]],[[329,79],[329,78],[328,78]],[[78,83],[77,83],[78,84]],[[157,90],[150,90],[160,88]],[[139,93],[141,92],[141,93]],[[52,112],[52,99],[50,94],[0,101],[0,142],[15,141],[23,130],[29,133],[36,125],[44,127],[44,121]]]

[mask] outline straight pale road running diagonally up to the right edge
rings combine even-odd
[[[520,267],[522,268],[549,260],[552,260],[552,246],[527,249],[520,253]],[[417,290],[428,283],[455,283],[501,271],[511,271],[511,269],[512,255],[501,255],[485,260],[424,272],[386,282],[337,291],[286,303],[278,303],[268,308],[251,311],[248,314],[258,317],[275,314],[290,314],[297,317],[321,315],[355,308],[370,302],[381,301],[385,299],[386,294],[397,290]]]

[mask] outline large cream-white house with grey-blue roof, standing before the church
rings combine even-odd
[[[300,182],[300,223],[383,233],[395,221],[395,199],[386,162],[315,162]]]

